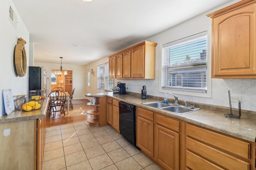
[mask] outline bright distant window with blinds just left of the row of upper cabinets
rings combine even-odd
[[[100,64],[97,66],[97,88],[100,91],[112,90],[114,87],[114,80],[109,77],[108,63]]]

